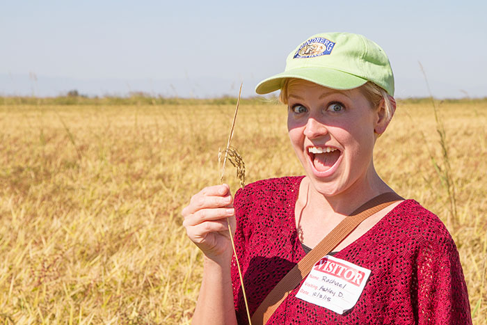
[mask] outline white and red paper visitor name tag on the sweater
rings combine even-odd
[[[343,315],[357,303],[369,275],[369,269],[326,255],[314,264],[296,298]]]

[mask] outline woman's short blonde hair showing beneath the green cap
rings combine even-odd
[[[282,102],[282,104],[287,104],[287,88],[289,86],[289,81],[292,81],[293,79],[294,78],[287,78],[282,83],[279,94],[279,101]],[[382,87],[377,86],[372,81],[367,81],[360,86],[359,89],[367,100],[372,103],[374,109],[378,109],[381,101],[384,100],[385,118],[389,121],[392,119],[394,111],[396,110],[396,101],[394,100],[394,97],[390,96],[387,91]]]

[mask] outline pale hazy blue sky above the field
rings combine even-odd
[[[388,53],[397,97],[427,95],[418,61],[436,97],[486,97],[486,3],[1,1],[0,95],[250,96],[308,36],[349,31]]]

